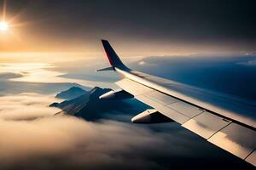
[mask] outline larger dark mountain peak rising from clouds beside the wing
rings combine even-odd
[[[57,114],[68,114],[79,116],[87,121],[96,121],[107,118],[111,114],[136,115],[139,111],[144,111],[146,106],[140,104],[135,99],[127,100],[102,100],[99,96],[109,92],[109,88],[92,88],[89,92],[75,99],[65,100],[61,103],[53,103],[49,106],[58,107],[62,111]],[[129,121],[131,116],[129,116]]]

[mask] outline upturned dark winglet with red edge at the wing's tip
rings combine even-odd
[[[114,67],[117,67],[119,69],[128,69],[123,62],[121,61],[121,59],[119,59],[119,56],[114,52],[113,48],[111,47],[111,45],[109,44],[109,42],[107,40],[102,40],[102,45],[105,49],[105,52],[108,56],[108,60],[110,65]]]

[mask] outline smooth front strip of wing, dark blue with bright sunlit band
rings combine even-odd
[[[169,94],[177,99],[198,105],[207,111],[229,117],[236,122],[256,128],[256,104],[254,101],[239,99],[228,94],[220,94],[206,89],[195,88],[180,82],[154,77],[139,71],[121,72],[136,82]]]

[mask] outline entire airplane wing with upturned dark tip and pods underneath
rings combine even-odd
[[[256,167],[256,104],[194,88],[126,67],[108,41],[103,47],[113,70],[123,76],[118,91],[101,99],[134,97],[154,109],[131,119],[136,123],[172,122],[207,139]],[[103,69],[104,70],[104,69]]]

